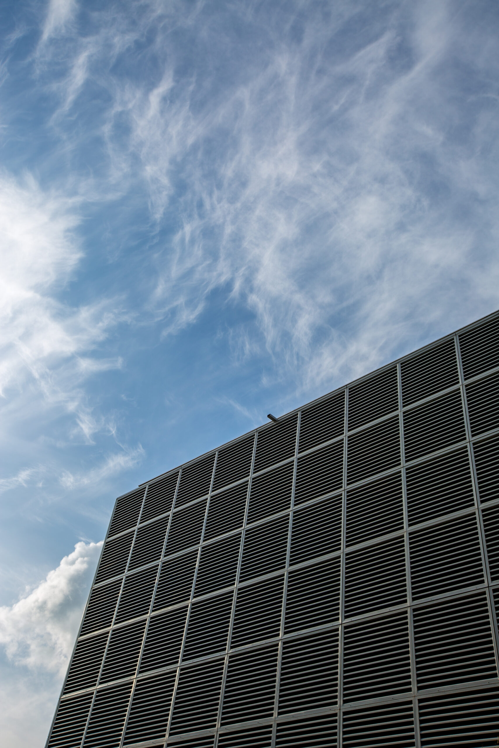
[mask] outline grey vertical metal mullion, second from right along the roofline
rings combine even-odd
[[[409,634],[409,660],[411,666],[412,711],[414,714],[414,744],[420,748],[419,713],[417,710],[417,671],[416,648],[414,645],[414,621],[412,618],[412,589],[411,589],[411,555],[409,553],[409,520],[407,508],[407,484],[405,482],[405,444],[404,417],[402,399],[402,368],[397,364],[397,384],[399,390],[399,432],[400,432],[400,460],[402,464],[402,511],[404,517],[404,551],[405,551],[405,583],[407,589],[407,618]]]

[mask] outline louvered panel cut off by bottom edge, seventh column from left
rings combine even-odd
[[[343,712],[343,746],[414,748],[411,702],[383,704]]]

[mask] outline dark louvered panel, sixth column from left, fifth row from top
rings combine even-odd
[[[283,644],[279,714],[334,706],[338,698],[338,631]]]

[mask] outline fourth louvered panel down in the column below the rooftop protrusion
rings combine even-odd
[[[231,649],[279,636],[284,574],[237,591]]]

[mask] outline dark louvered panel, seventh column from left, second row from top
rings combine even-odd
[[[399,419],[390,418],[348,439],[350,485],[400,465]]]

